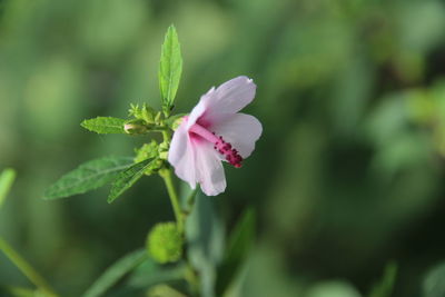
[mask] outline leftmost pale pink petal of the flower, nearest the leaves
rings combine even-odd
[[[196,188],[194,143],[188,135],[187,120],[176,129],[168,151],[168,161],[175,167],[175,174]]]

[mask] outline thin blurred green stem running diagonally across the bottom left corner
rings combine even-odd
[[[41,277],[32,266],[27,263],[4,239],[0,237],[0,250],[19,268],[19,270],[28,277],[28,279],[36,285],[42,293],[48,296],[58,296],[47,284],[47,281]]]

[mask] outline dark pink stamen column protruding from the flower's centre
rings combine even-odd
[[[226,160],[235,166],[236,168],[241,167],[243,157],[239,156],[238,151],[231,147],[229,142],[226,142],[221,136],[215,135],[215,132],[210,132],[202,126],[195,123],[191,126],[190,132],[199,135],[207,141],[214,145],[214,149],[225,156]]]

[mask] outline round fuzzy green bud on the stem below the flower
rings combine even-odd
[[[182,256],[184,239],[175,222],[159,222],[148,234],[148,254],[158,263],[174,263]]]

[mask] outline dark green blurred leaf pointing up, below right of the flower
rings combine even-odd
[[[246,210],[233,230],[222,264],[218,268],[216,295],[222,296],[236,277],[240,266],[250,251],[255,238],[256,216],[253,209]]]

